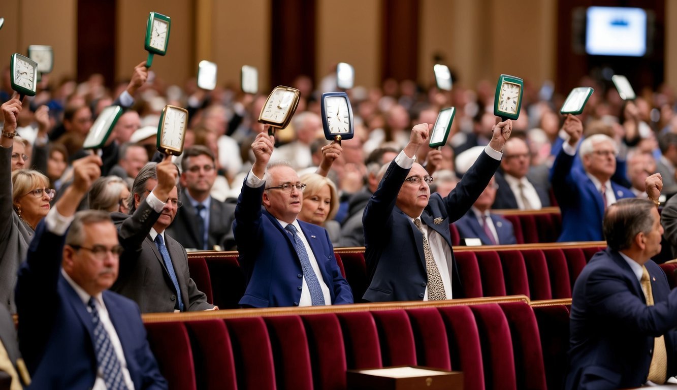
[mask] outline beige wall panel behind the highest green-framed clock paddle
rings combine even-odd
[[[187,77],[196,74],[192,1],[118,0],[117,7],[116,79],[129,79],[134,66],[148,58],[144,38],[151,11],[171,18],[167,55],[155,56],[152,70],[168,85],[183,86]]]

